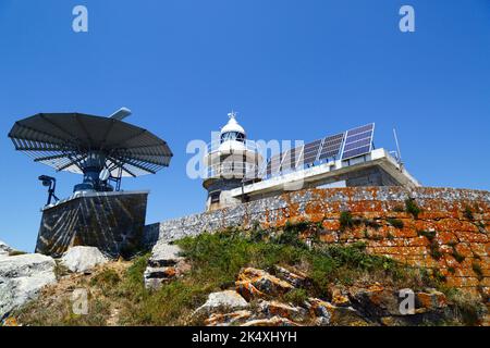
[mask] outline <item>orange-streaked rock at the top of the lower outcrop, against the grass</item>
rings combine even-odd
[[[243,269],[235,282],[236,290],[250,300],[264,296],[281,296],[294,287],[262,270],[253,268]]]

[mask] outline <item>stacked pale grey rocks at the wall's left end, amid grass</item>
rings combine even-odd
[[[162,241],[155,245],[144,273],[146,288],[156,290],[187,272],[191,266],[181,253],[179,246]]]

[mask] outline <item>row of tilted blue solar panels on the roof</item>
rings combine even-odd
[[[302,147],[272,156],[262,167],[271,177],[289,170],[301,170],[329,160],[348,160],[372,150],[375,124],[368,124],[333,136],[308,142]]]

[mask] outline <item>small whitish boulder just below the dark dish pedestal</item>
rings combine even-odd
[[[70,248],[61,258],[61,263],[70,271],[84,273],[91,271],[96,265],[108,262],[96,247],[77,246]]]

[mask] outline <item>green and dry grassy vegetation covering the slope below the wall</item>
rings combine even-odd
[[[308,287],[282,297],[293,304],[302,304],[308,297],[329,298],[332,284],[351,286],[359,279],[414,291],[428,287],[446,291],[439,272],[429,273],[369,254],[363,243],[327,245],[314,240],[308,248],[302,234],[313,229],[315,224],[301,222],[287,224],[282,231],[262,231],[256,226],[250,231],[226,228],[187,237],[177,245],[191,262],[191,271],[159,290],[150,291],[144,286],[147,254],[135,259],[130,268],[103,268],[88,279],[77,278],[74,287],[88,289],[89,315],[73,314],[66,295],[54,303],[39,298],[20,312],[19,320],[27,325],[106,325],[111,321],[120,325],[200,325],[203,319],[194,318],[194,310],[204,303],[208,294],[233,288],[236,275],[245,266],[262,270],[294,266],[306,273]],[[476,301],[468,298],[461,301],[461,304],[456,302],[458,313],[467,320],[477,318],[480,309]]]

